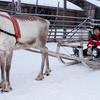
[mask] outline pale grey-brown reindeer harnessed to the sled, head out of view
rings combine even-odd
[[[0,29],[6,31],[5,33],[15,34],[13,23],[9,20],[10,16],[6,12],[0,12],[0,14],[6,16],[0,16]],[[10,68],[13,56],[13,50],[26,49],[27,46],[20,45],[19,42],[28,44],[31,47],[41,47],[46,48],[46,40],[49,30],[49,21],[36,16],[28,15],[13,15],[16,18],[20,32],[21,38],[17,39],[14,36],[5,34],[0,31],[0,61],[1,61],[1,82],[0,87],[2,91],[9,92],[12,90],[10,84]],[[43,69],[46,61],[46,71],[45,74],[50,74],[48,53],[41,51],[42,63],[41,70],[37,76],[37,80],[42,80],[44,78]]]

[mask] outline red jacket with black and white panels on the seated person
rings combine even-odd
[[[98,36],[93,34],[88,42],[87,47],[90,48],[91,46],[97,46],[97,48],[100,48],[100,34]]]

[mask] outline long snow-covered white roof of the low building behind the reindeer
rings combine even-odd
[[[0,1],[9,1],[12,2],[12,0],[0,0]],[[17,1],[17,0],[15,0]],[[59,7],[63,8],[63,1],[64,0],[38,0],[38,5],[41,6],[49,6],[49,7],[58,7],[58,2]],[[27,4],[36,4],[36,0],[21,0],[21,3],[27,3]],[[67,9],[72,9],[72,10],[79,10],[83,11],[82,8],[78,7],[77,5],[67,1]]]

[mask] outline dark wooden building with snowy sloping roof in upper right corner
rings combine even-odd
[[[85,13],[82,16],[91,16],[95,19],[100,19],[100,1],[99,0],[68,0],[82,9]],[[80,14],[81,15],[81,14]]]

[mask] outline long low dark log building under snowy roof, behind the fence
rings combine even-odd
[[[0,0],[0,8],[1,9],[6,9],[6,10],[12,10],[12,1],[14,0]],[[21,1],[21,0],[17,0]],[[56,5],[60,5],[58,2],[56,2]],[[18,2],[14,2],[14,10],[17,10]],[[48,14],[48,15],[63,15],[63,8],[59,7],[59,11],[57,13],[57,6],[46,6],[46,5],[37,5],[37,4],[32,4],[32,3],[24,3],[21,2],[21,12],[22,13],[38,13],[38,14]],[[78,12],[83,12],[83,10],[80,9],[75,9],[72,7],[67,9],[67,16],[76,16]]]

